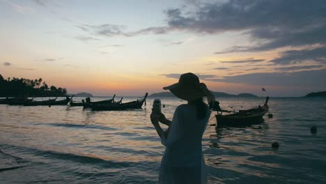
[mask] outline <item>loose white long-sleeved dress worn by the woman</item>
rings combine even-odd
[[[210,118],[197,118],[195,105],[179,105],[168,130],[161,137],[166,146],[161,162],[159,183],[206,183],[201,139]]]

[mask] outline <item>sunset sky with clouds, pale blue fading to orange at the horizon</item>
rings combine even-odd
[[[0,0],[0,40],[4,78],[68,93],[157,93],[185,72],[231,94],[326,91],[324,0]]]

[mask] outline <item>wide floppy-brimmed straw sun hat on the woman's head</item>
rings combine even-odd
[[[178,83],[163,89],[171,91],[178,98],[189,101],[198,100],[210,93],[206,85],[199,82],[199,77],[191,72],[184,73],[180,76]]]

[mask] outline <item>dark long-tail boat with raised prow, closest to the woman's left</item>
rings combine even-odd
[[[141,100],[134,100],[132,102],[125,103],[112,103],[108,105],[91,105],[93,111],[121,111],[127,109],[141,109],[143,102],[146,101],[148,93]]]

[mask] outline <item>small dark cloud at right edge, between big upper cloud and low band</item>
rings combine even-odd
[[[326,47],[281,52],[279,58],[272,59],[270,62],[280,65],[288,65],[291,63],[304,63],[309,61],[326,64]]]

